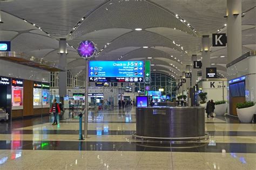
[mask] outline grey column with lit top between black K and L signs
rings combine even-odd
[[[202,77],[206,79],[206,67],[211,67],[210,38],[208,35],[202,38]]]

